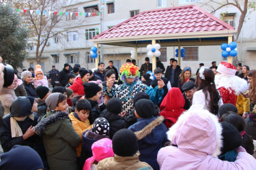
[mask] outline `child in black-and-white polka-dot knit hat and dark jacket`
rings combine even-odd
[[[92,129],[83,133],[83,146],[81,151],[81,163],[92,156],[91,146],[95,141],[109,138],[109,122],[105,118],[97,118]]]

